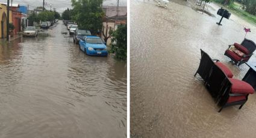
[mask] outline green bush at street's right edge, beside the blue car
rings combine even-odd
[[[115,58],[126,60],[127,58],[127,26],[120,25],[111,34],[110,53],[115,53]]]

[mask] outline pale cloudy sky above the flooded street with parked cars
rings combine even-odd
[[[11,0],[10,0],[11,1]],[[50,9],[56,8],[59,13],[62,13],[67,7],[71,7],[71,0],[45,0],[45,8]],[[104,5],[117,5],[117,0],[104,0]],[[7,0],[0,0],[0,2],[7,3]],[[18,3],[20,5],[29,5],[30,9],[34,9],[39,6],[43,6],[43,0],[13,0],[13,3]],[[126,6],[127,0],[119,0],[119,6]]]

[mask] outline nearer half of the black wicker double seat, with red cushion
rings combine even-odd
[[[248,95],[254,93],[254,89],[248,83],[233,78],[228,78],[217,65],[214,65],[206,87],[221,107],[219,112],[228,106],[240,105],[239,109],[248,100]]]

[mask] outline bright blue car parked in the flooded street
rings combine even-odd
[[[80,49],[87,55],[107,56],[108,50],[100,37],[85,36],[79,41]]]

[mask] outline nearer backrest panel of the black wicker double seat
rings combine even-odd
[[[231,88],[232,83],[226,74],[217,65],[213,65],[207,81],[207,88],[214,98],[223,95],[227,88]]]

